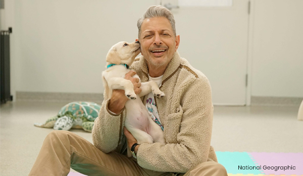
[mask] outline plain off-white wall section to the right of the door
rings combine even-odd
[[[303,1],[254,1],[251,96],[303,97]]]

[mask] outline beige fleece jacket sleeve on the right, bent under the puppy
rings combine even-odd
[[[141,144],[137,151],[138,164],[151,170],[184,173],[207,161],[213,122],[211,94],[211,86],[206,77],[192,81],[181,96],[180,112],[169,114],[171,119],[167,121],[167,129],[164,128],[169,130],[169,135],[176,133],[176,141],[166,145]],[[170,131],[170,128],[176,130]]]

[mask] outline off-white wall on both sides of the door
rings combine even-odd
[[[303,1],[251,1],[255,6],[251,95],[303,97]],[[121,40],[134,41],[137,19],[156,4],[154,0],[7,2],[13,8],[6,23],[13,27],[13,89],[70,93],[103,92],[100,76],[109,48]],[[126,22],[129,18],[133,23]]]

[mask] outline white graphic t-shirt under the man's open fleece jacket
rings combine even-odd
[[[149,77],[148,81],[150,81],[150,80],[155,81],[159,87],[161,86],[163,75],[159,76],[159,77],[150,77],[148,75],[148,77]],[[162,128],[162,130],[164,130],[164,128],[161,124],[160,118],[159,118],[158,109],[156,107],[155,97],[152,92],[150,92],[147,95],[145,106],[146,106],[146,109],[148,110],[148,112],[150,113],[151,117],[153,118],[153,120]]]

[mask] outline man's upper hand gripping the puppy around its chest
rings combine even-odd
[[[132,77],[135,74],[136,74],[135,71],[130,70],[128,73],[125,74],[124,79],[128,79],[133,83],[135,94],[140,94],[141,89],[139,87],[141,86],[141,83],[139,82],[139,78]],[[125,96],[124,90],[113,90],[113,94],[108,108],[111,112],[118,114],[124,108],[125,103],[128,100],[129,99]]]

